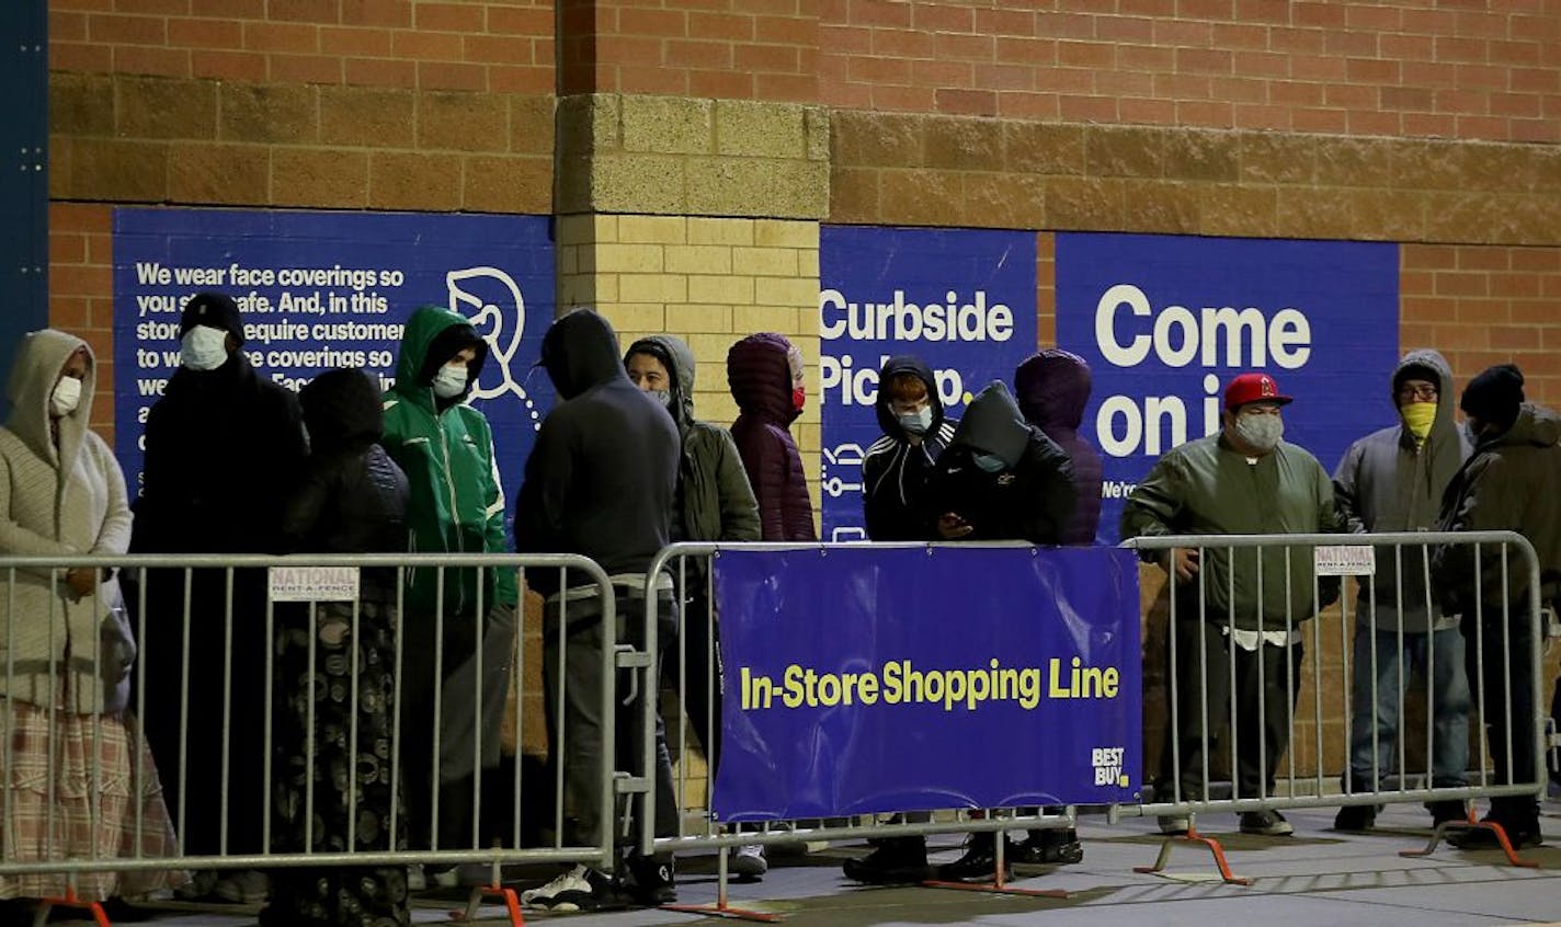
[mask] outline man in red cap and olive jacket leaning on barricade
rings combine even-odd
[[[1282,409],[1289,401],[1266,373],[1232,379],[1221,431],[1160,457],[1127,499],[1122,537],[1342,531],[1328,471],[1285,442]],[[1207,797],[1204,757],[1230,716],[1232,698],[1235,794],[1274,794],[1300,690],[1299,624],[1325,604],[1313,599],[1311,549],[1177,548],[1143,556],[1174,584],[1175,732],[1165,738],[1155,801]],[[1185,816],[1160,818],[1166,833],[1188,827]],[[1243,812],[1241,830],[1286,836],[1291,826],[1278,812],[1257,810]]]

